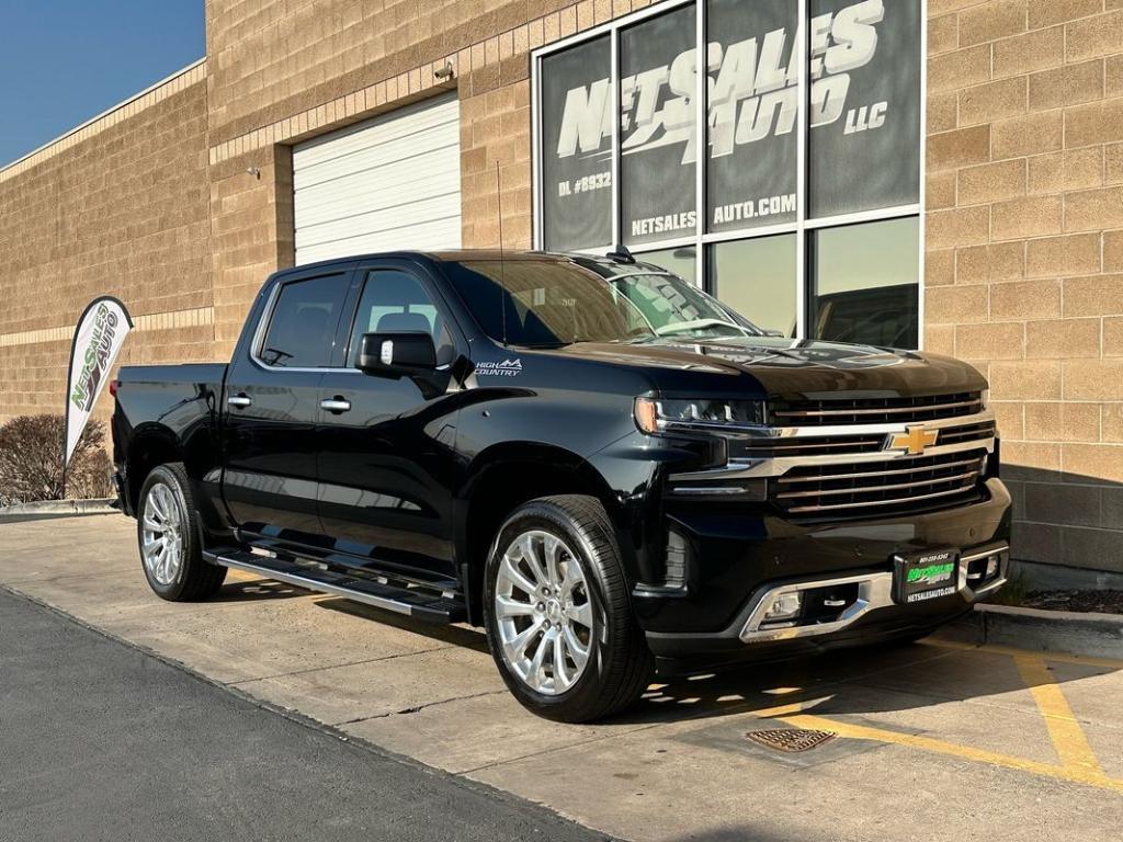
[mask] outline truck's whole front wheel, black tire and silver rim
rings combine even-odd
[[[492,657],[527,708],[588,722],[639,699],[654,659],[599,501],[567,495],[518,509],[499,531],[484,582]]]

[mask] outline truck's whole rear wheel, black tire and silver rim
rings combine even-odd
[[[212,596],[226,568],[203,560],[199,512],[182,464],[153,468],[137,511],[137,544],[148,586],[172,602]]]

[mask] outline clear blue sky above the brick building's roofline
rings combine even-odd
[[[0,166],[206,49],[203,0],[0,0]]]

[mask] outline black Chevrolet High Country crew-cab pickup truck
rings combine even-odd
[[[626,253],[286,269],[229,365],[115,391],[159,596],[237,568],[483,625],[558,720],[621,710],[654,668],[919,638],[1006,577],[974,368],[770,336]]]

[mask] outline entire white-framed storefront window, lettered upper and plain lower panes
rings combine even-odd
[[[915,348],[926,10],[664,0],[542,46],[536,246],[626,245],[765,329]]]

